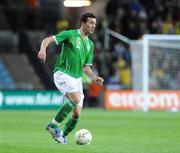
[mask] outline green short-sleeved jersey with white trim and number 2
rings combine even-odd
[[[84,39],[79,29],[63,31],[53,38],[56,44],[62,43],[54,72],[60,70],[75,78],[82,77],[83,66],[92,65],[93,42],[89,38]]]

